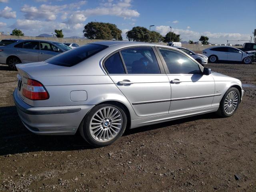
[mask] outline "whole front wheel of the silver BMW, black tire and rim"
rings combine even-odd
[[[231,101],[232,100],[232,101]],[[222,117],[232,116],[240,104],[240,92],[237,88],[231,87],[224,94],[217,114]]]

